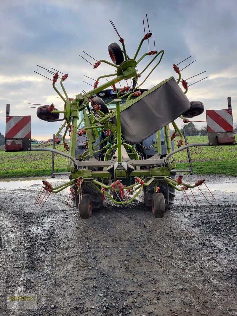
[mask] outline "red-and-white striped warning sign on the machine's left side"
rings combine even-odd
[[[6,138],[31,138],[31,116],[6,118]]]

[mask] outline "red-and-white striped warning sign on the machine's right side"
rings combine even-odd
[[[230,110],[208,110],[208,132],[233,132],[233,117]]]

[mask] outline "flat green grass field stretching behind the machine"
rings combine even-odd
[[[237,135],[235,136],[237,140]],[[175,140],[179,140],[176,137]],[[207,136],[188,137],[188,143],[208,142]],[[64,147],[59,149],[62,151]],[[177,142],[175,142],[177,149]],[[237,146],[204,146],[200,149],[192,147],[190,152],[194,173],[199,174],[226,174],[237,176]],[[175,156],[178,169],[188,169],[187,151],[183,150]],[[21,178],[45,176],[51,174],[52,153],[49,152],[9,152],[0,150],[0,178]],[[55,172],[66,171],[67,158],[56,155],[54,162]]]

